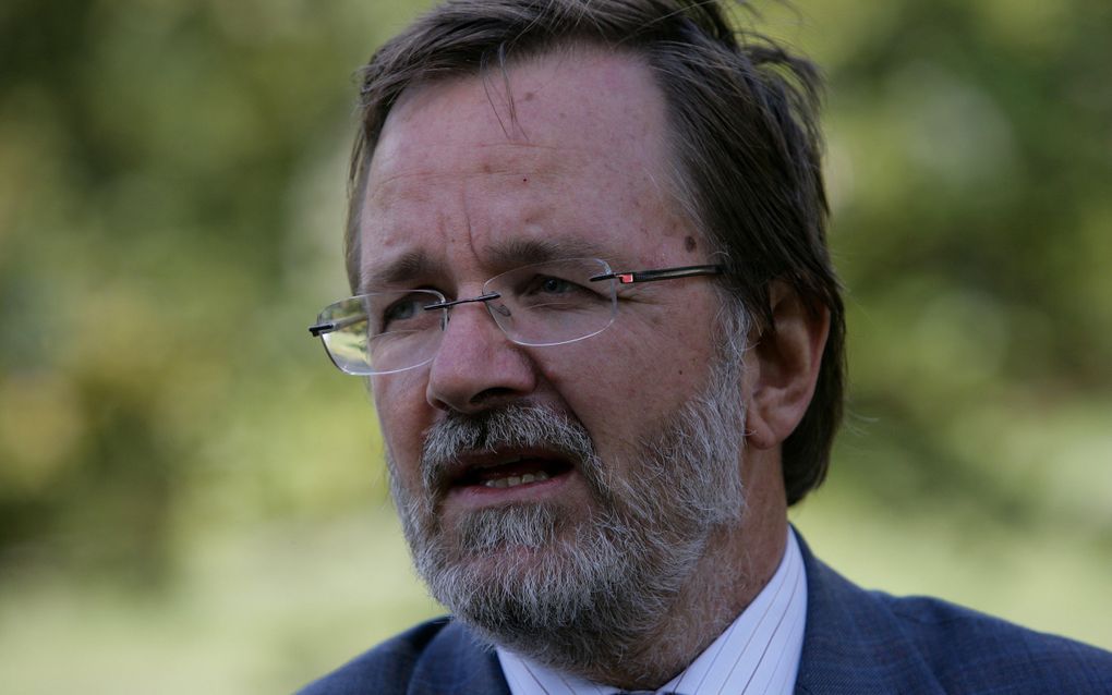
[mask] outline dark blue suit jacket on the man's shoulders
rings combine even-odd
[[[932,598],[851,584],[800,543],[807,624],[797,695],[1112,695],[1112,654]],[[1105,610],[1108,606],[1096,606]],[[461,624],[430,620],[302,695],[509,695],[498,657]]]

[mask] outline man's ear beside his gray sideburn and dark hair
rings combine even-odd
[[[773,324],[746,360],[747,443],[758,449],[780,445],[803,419],[815,393],[830,312],[807,307],[787,284],[768,288]]]

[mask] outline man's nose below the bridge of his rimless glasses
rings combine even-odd
[[[429,366],[426,398],[440,410],[478,413],[523,398],[537,373],[525,348],[509,340],[486,302],[455,306]]]

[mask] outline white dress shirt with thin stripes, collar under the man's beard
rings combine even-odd
[[[776,574],[692,664],[656,693],[791,695],[800,669],[807,613],[803,556],[788,528]],[[513,695],[613,695],[620,691],[560,674],[498,647]]]

